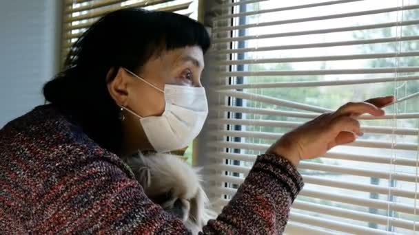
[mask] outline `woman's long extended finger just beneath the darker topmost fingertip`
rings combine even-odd
[[[340,107],[338,111],[333,114],[333,117],[338,117],[340,115],[361,115],[363,113],[380,116],[384,115],[385,112],[369,102],[349,102],[343,105],[343,107]]]

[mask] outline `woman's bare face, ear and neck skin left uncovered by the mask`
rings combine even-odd
[[[201,87],[203,68],[201,47],[190,46],[163,51],[152,56],[141,71],[132,72],[164,90],[165,84]],[[114,80],[108,83],[108,91],[116,104],[134,111],[141,117],[159,116],[165,110],[164,94],[123,68],[120,68]],[[139,119],[126,111],[123,111],[123,115],[123,151],[135,153],[137,149],[152,149]]]

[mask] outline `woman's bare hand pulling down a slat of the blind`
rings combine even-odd
[[[354,142],[362,135],[356,117],[363,113],[384,115],[380,109],[394,102],[394,96],[373,98],[365,102],[349,102],[333,113],[323,113],[314,120],[286,133],[267,153],[283,156],[297,166],[300,159],[320,157],[334,146]]]

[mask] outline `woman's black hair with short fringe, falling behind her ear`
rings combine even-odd
[[[139,72],[158,53],[198,45],[205,53],[205,27],[181,14],[127,8],[103,16],[72,45],[64,69],[43,87],[45,100],[65,113],[101,147],[121,150],[120,109],[110,97],[106,76],[113,67]]]

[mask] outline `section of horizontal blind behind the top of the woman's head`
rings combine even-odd
[[[185,14],[197,19],[197,0],[65,0],[63,14],[62,56],[92,23],[101,16],[121,8],[144,8]]]

